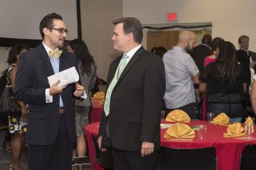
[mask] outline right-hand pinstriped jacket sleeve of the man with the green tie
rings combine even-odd
[[[146,69],[144,76],[144,106],[141,140],[156,142],[160,129],[160,113],[164,104],[165,92],[164,63],[154,60]]]

